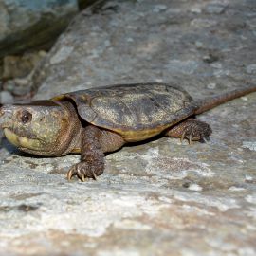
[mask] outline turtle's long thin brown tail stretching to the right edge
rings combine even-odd
[[[233,99],[242,97],[242,96],[247,95],[252,92],[256,92],[256,85],[251,85],[249,87],[236,89],[236,90],[224,93],[219,96],[213,96],[213,97],[207,98],[205,100],[201,100],[201,101],[199,100],[197,102],[198,108],[195,111],[195,114],[201,114],[205,111],[210,110],[211,108],[213,108],[215,106],[218,106],[227,101],[231,101]]]

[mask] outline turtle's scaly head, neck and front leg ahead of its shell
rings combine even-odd
[[[21,151],[44,156],[81,153],[81,162],[67,173],[68,180],[73,175],[82,181],[85,177],[96,179],[104,170],[104,153],[116,151],[125,143],[116,133],[85,122],[82,127],[75,107],[69,102],[52,102],[51,106],[46,101],[7,105],[1,108],[0,118],[9,142]]]

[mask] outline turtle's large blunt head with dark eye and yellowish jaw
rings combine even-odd
[[[54,101],[8,104],[0,108],[0,127],[9,142],[22,151],[58,155],[69,116],[68,109]]]

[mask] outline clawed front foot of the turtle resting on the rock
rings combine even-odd
[[[87,162],[80,162],[71,167],[66,176],[68,180],[71,180],[72,176],[77,175],[82,181],[86,178],[93,178],[97,180],[97,176],[103,173],[102,165],[97,163],[88,164]]]

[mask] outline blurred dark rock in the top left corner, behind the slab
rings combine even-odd
[[[77,12],[76,0],[1,1],[0,59],[51,46]]]

